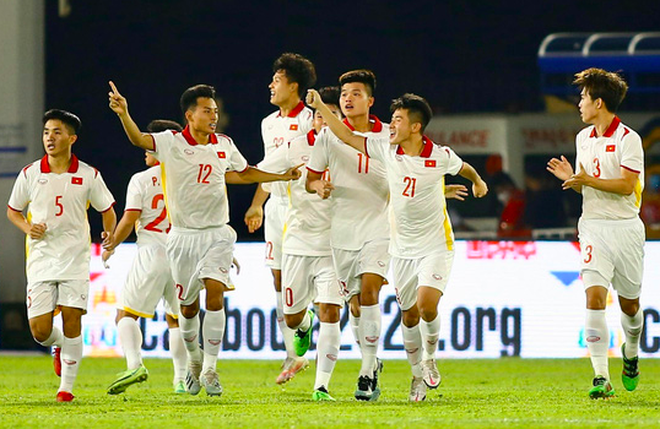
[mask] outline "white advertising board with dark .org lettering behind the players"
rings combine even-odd
[[[123,244],[104,269],[93,249],[89,313],[83,318],[87,356],[121,356],[114,325],[115,302],[135,255]],[[221,358],[280,359],[282,339],[275,323],[275,295],[263,264],[264,245],[239,243],[241,273],[236,290],[226,294],[227,329]],[[447,358],[572,358],[587,355],[584,341],[584,290],[580,253],[571,242],[459,241],[454,267],[440,303],[439,356]],[[660,242],[646,244],[642,308],[645,330],[642,357],[660,357]],[[379,356],[405,358],[394,288],[381,292],[383,325]],[[610,354],[620,355],[624,341],[616,294],[608,298]],[[359,358],[346,310],[341,358]],[[154,320],[142,320],[143,355],[169,356],[162,306]],[[313,356],[313,351],[310,351]]]

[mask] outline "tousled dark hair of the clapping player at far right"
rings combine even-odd
[[[628,92],[628,84],[618,73],[595,67],[576,73],[573,85],[585,89],[592,100],[602,99],[611,113],[616,113]]]

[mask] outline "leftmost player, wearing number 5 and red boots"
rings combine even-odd
[[[81,317],[89,296],[89,204],[101,212],[103,245],[112,241],[115,200],[95,168],[78,160],[71,147],[80,119],[53,109],[44,114],[46,156],[18,175],[7,217],[27,235],[27,313],[35,341],[55,347],[55,373],[61,377],[58,402],[72,401],[82,359]],[[27,218],[23,211],[27,209]],[[63,330],[53,326],[62,313]]]

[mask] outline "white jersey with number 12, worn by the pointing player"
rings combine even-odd
[[[210,134],[208,144],[200,145],[187,126],[180,133],[168,130],[152,136],[172,225],[203,229],[229,222],[225,173],[248,168],[232,139]]]

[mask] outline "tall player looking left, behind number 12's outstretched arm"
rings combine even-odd
[[[261,122],[261,136],[264,142],[264,159],[277,149],[298,136],[305,136],[312,129],[312,111],[301,98],[307,89],[316,83],[314,64],[299,54],[284,53],[273,64],[273,79],[268,85],[270,103],[278,110]],[[288,197],[286,183],[272,183],[257,186],[252,204],[245,213],[248,231],[261,227],[264,202],[266,202],[266,265],[273,274],[276,296],[277,323],[282,332],[287,357],[282,363],[282,371],[275,382],[283,384],[293,379],[307,368],[309,362],[298,357],[293,348],[293,331],[284,322],[282,305],[282,232],[286,217]]]

